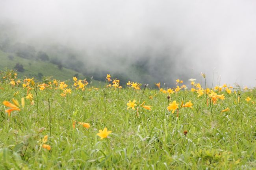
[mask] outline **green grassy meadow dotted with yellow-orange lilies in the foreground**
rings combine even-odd
[[[256,89],[70,79],[1,72],[0,170],[256,168]]]

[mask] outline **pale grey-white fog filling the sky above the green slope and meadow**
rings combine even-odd
[[[255,9],[255,0],[0,0],[0,31],[64,64],[78,58],[98,79],[173,85],[203,72],[211,84],[215,68],[214,85],[221,76],[252,87]]]

